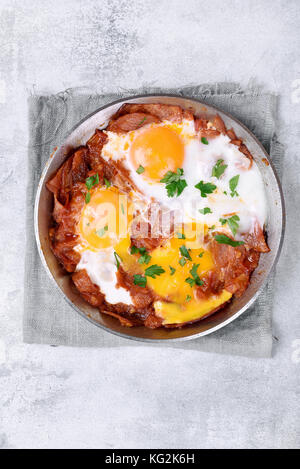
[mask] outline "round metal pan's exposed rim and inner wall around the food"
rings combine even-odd
[[[176,104],[183,109],[191,109],[196,115],[200,114],[207,118],[219,113],[227,128],[233,127],[237,136],[244,140],[260,169],[265,183],[269,209],[267,234],[271,251],[261,255],[259,266],[254,271],[250,285],[241,298],[234,298],[226,307],[212,316],[182,329],[160,328],[152,330],[145,327],[126,328],[121,326],[118,320],[105,314],[100,314],[97,309],[90,306],[81,298],[71,281],[70,275],[59,265],[50,249],[48,229],[51,222],[53,198],[52,194],[46,189],[46,182],[61,166],[70,150],[80,145],[85,145],[96,128],[105,128],[110,117],[126,102]],[[272,268],[278,260],[284,235],[285,209],[280,182],[276,176],[272,161],[270,161],[268,154],[260,142],[241,122],[229,114],[201,103],[196,99],[175,95],[143,95],[118,100],[103,106],[72,129],[64,144],[49,158],[44,168],[36,194],[34,220],[36,242],[42,263],[49,277],[54,281],[61,293],[62,301],[64,298],[81,316],[107,332],[127,339],[144,342],[162,342],[195,339],[206,334],[211,334],[232,322],[252,305],[263,289]]]

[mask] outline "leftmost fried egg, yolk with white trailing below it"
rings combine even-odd
[[[85,269],[92,282],[112,304],[132,304],[129,292],[117,286],[115,245],[128,239],[130,216],[128,199],[117,188],[91,191],[91,199],[81,212],[78,223],[80,243],[76,246],[81,259],[77,270]]]

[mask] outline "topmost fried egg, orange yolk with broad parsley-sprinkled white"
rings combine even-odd
[[[230,233],[220,219],[238,214],[238,235],[250,232],[256,221],[263,227],[267,205],[261,174],[253,162],[230,143],[227,135],[219,135],[204,144],[195,131],[194,121],[150,124],[127,134],[107,133],[102,156],[122,161],[140,193],[156,200],[176,213],[178,223],[197,221]],[[212,176],[219,160],[226,165],[220,178]],[[142,168],[139,171],[139,168]],[[187,187],[179,197],[169,197],[166,184],[160,182],[168,171],[183,169]],[[230,181],[239,175],[238,190],[231,195]],[[201,197],[195,186],[200,182],[216,186],[212,194]],[[206,209],[206,213],[202,212]],[[209,209],[209,210],[207,210]]]

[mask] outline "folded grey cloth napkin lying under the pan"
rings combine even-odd
[[[258,137],[278,172],[283,149],[275,138],[277,97],[258,90],[241,90],[219,83],[182,89],[147,89],[116,94],[66,90],[56,95],[29,98],[29,150],[27,186],[27,243],[25,259],[24,342],[86,347],[138,346],[140,342],[117,337],[80,317],[56,291],[42,266],[33,229],[33,207],[43,167],[55,146],[70,129],[97,108],[134,94],[172,93],[189,96],[231,113]],[[274,274],[255,304],[223,329],[195,340],[149,345],[217,353],[267,357],[272,350],[272,298]]]

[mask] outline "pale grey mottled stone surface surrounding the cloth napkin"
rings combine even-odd
[[[0,448],[299,447],[300,4],[1,0]],[[255,80],[280,95],[270,360],[22,344],[27,96]]]

